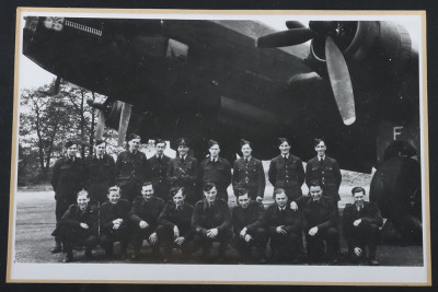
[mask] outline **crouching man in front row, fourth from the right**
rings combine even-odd
[[[238,189],[235,197],[238,206],[232,209],[235,247],[244,259],[251,259],[254,247],[258,262],[265,264],[267,244],[267,234],[264,229],[265,208],[250,199],[247,189]]]

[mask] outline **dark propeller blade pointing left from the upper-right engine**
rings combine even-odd
[[[258,37],[256,46],[260,48],[288,47],[308,42],[315,34],[309,28],[295,28]]]

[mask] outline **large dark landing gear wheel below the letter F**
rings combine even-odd
[[[382,240],[402,245],[422,244],[422,178],[415,150],[402,141],[388,150],[392,153],[385,153],[370,186],[370,200],[388,219]]]

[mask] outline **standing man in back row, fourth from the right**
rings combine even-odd
[[[218,142],[210,140],[208,141],[208,147],[210,156],[203,160],[199,167],[201,185],[215,183],[218,189],[218,198],[228,203],[227,188],[231,184],[230,163],[219,157],[220,148]]]

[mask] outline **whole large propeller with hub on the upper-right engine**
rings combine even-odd
[[[311,21],[309,28],[300,24],[288,21],[286,22],[288,31],[262,36],[256,40],[256,45],[261,48],[286,47],[312,38],[325,38],[325,60],[333,95],[344,124],[349,126],[356,120],[351,79],[344,55],[334,40],[344,34],[344,24],[336,21]]]

